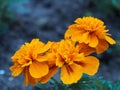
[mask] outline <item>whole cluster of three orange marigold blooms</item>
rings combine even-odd
[[[27,86],[47,83],[59,69],[64,84],[77,83],[83,73],[96,74],[99,60],[90,54],[100,54],[108,49],[108,43],[115,44],[105,28],[101,20],[83,17],[68,27],[65,39],[59,42],[45,44],[36,38],[23,44],[11,57],[12,76],[23,74]]]

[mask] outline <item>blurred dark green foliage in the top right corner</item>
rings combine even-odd
[[[106,15],[120,15],[120,0],[91,0],[91,3],[96,10]]]

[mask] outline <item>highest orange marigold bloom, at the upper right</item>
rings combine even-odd
[[[89,47],[95,48],[96,52],[100,54],[108,49],[108,43],[115,44],[108,31],[103,21],[94,17],[83,17],[77,18],[75,24],[68,27],[65,38],[85,43]]]

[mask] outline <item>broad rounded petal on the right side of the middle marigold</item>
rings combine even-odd
[[[88,56],[80,62],[83,72],[88,75],[94,75],[98,71],[99,60],[96,57]]]

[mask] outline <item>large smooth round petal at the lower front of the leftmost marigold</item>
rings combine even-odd
[[[29,67],[30,75],[34,78],[41,78],[48,74],[48,71],[48,65],[44,62],[34,61]]]

